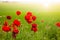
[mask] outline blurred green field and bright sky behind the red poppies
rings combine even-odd
[[[17,10],[22,12],[19,17],[16,16]],[[30,30],[31,25],[24,19],[28,11],[37,17],[34,21],[38,24],[36,33]],[[7,15],[12,16],[9,24],[14,19],[22,22],[16,40],[60,40],[60,27],[55,25],[60,22],[60,0],[0,0],[0,40],[6,39],[6,33],[2,32],[1,27]],[[8,35],[8,40],[12,40],[11,32]]]

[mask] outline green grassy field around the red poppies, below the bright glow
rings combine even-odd
[[[52,7],[53,8],[53,7]],[[56,22],[60,22],[60,10],[57,11],[40,11],[38,5],[20,4],[20,3],[0,3],[0,40],[6,40],[7,33],[2,31],[2,25],[7,15],[11,15],[12,19],[7,20],[9,24],[14,19],[19,19],[22,23],[22,27],[19,28],[20,32],[16,37],[16,40],[60,40],[60,28],[55,25]],[[20,16],[16,15],[16,11],[22,11]],[[38,24],[38,31],[34,33],[31,31],[31,25],[26,22],[24,16],[26,12],[31,11],[33,15],[37,16],[34,23]],[[44,23],[41,22],[44,20]],[[8,33],[7,40],[14,40],[11,36],[11,32]]]

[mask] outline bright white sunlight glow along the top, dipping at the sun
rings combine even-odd
[[[53,3],[60,3],[60,0],[0,0],[0,2],[2,1],[18,2],[23,4],[42,4],[45,8],[48,8],[49,5]]]

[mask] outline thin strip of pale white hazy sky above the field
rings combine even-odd
[[[30,3],[30,2],[33,2],[33,3],[40,3],[40,2],[48,2],[48,3],[58,3],[60,2],[60,0],[0,0],[0,1],[16,1],[16,2],[26,2],[26,3]]]

